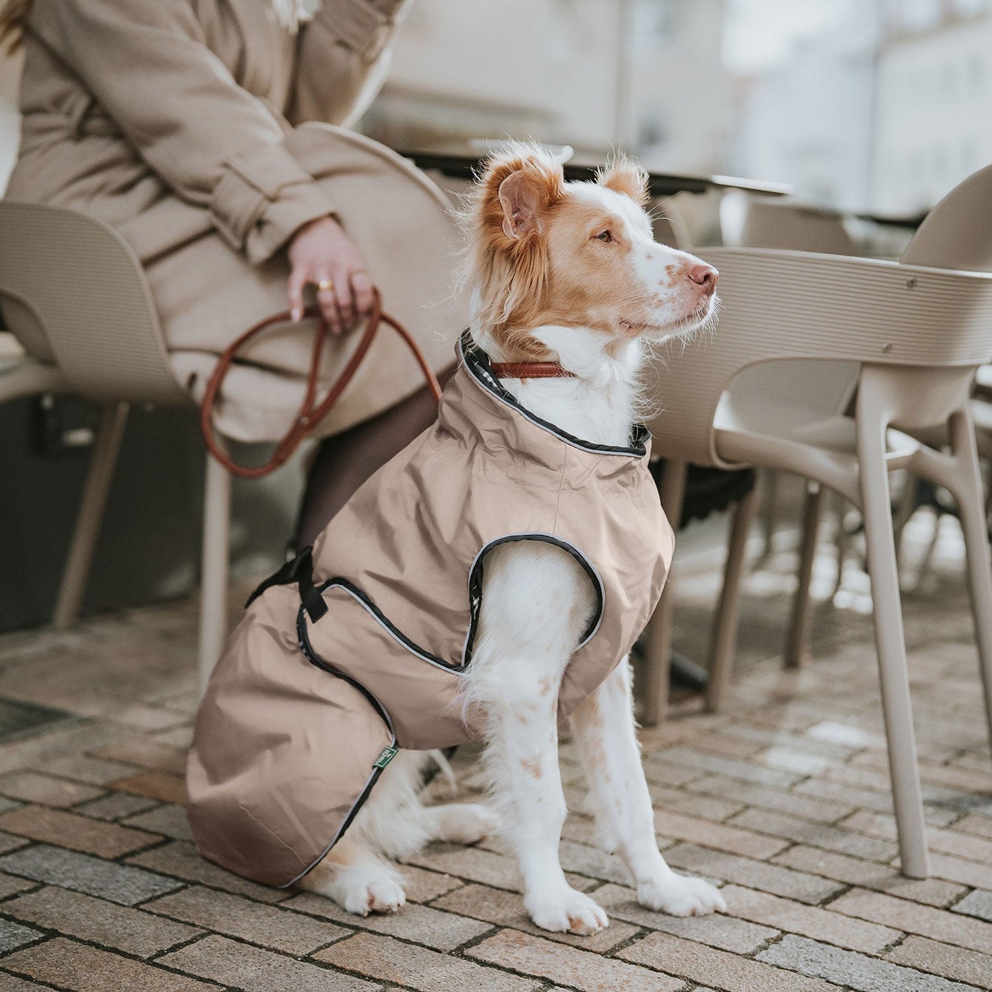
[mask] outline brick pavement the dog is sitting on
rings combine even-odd
[[[868,620],[819,608],[814,661],[784,672],[790,566],[773,558],[749,581],[726,711],[702,713],[686,695],[666,726],[642,732],[659,843],[671,864],[723,887],[727,915],[638,906],[574,812],[562,863],[611,918],[592,937],[533,927],[490,841],[429,848],[404,868],[406,909],[366,920],[200,859],[182,806],[192,604],[0,638],[0,696],[78,717],[0,745],[0,992],[992,987],[992,767],[959,565],[905,597],[926,881],[895,867]],[[714,575],[692,576],[680,596],[681,645],[696,655]],[[562,771],[581,809],[567,744]]]

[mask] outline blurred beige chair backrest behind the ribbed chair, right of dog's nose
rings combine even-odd
[[[836,210],[767,196],[749,197],[740,243],[745,247],[786,248],[823,255],[856,254]]]

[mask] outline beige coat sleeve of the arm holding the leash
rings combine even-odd
[[[30,30],[80,77],[148,165],[253,262],[334,212],[285,124],[206,46],[189,0],[59,0]]]

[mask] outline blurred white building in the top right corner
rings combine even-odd
[[[992,163],[992,4],[904,0],[885,14],[871,201],[915,212]]]

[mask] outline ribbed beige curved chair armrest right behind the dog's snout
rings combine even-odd
[[[974,367],[992,357],[992,273],[765,248],[706,248],[720,273],[711,339],[663,351],[649,377],[655,451],[723,464],[717,404],[750,365],[784,359]]]

